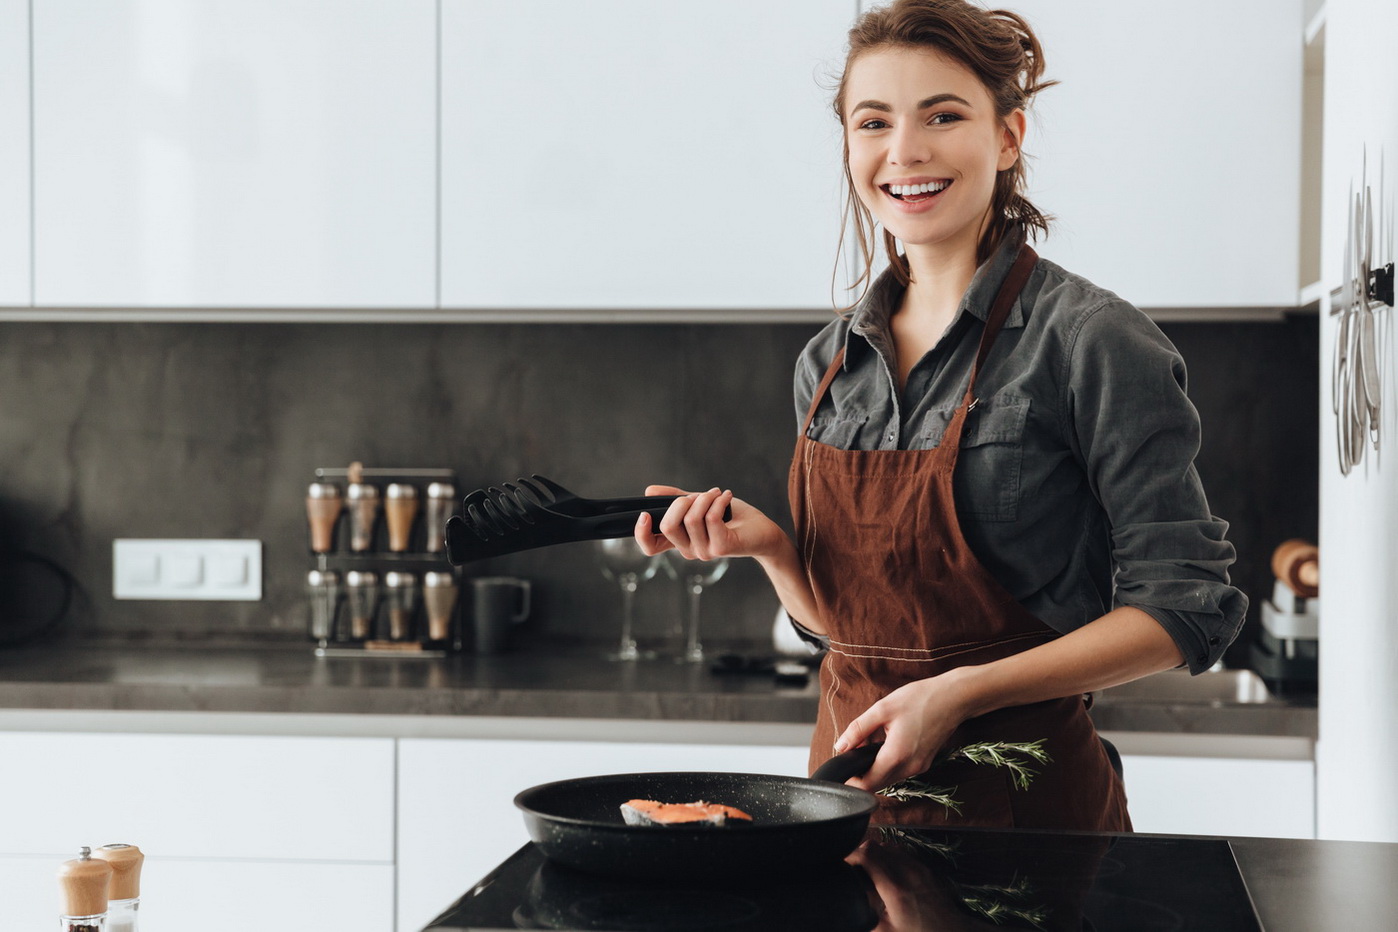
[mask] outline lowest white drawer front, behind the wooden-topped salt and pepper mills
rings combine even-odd
[[[55,872],[74,855],[0,857],[0,929],[57,928]],[[141,932],[193,929],[391,932],[393,865],[147,858]]]

